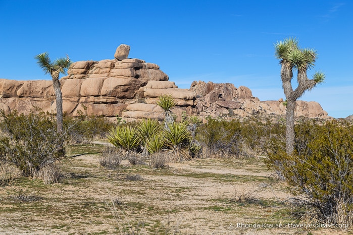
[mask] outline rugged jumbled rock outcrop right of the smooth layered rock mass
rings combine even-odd
[[[258,114],[284,115],[286,113],[283,99],[260,101],[259,98],[253,96],[249,88],[244,86],[236,88],[231,83],[194,81],[190,91],[195,92],[196,107],[199,115],[204,118],[207,116],[212,118],[218,116],[244,118]],[[326,118],[327,112],[318,102],[298,100],[295,115],[308,118]]]

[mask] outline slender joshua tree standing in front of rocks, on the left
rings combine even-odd
[[[66,74],[72,62],[68,55],[66,55],[66,58],[58,58],[54,62],[51,62],[47,52],[38,54],[34,58],[37,60],[39,67],[43,69],[44,73],[52,76],[55,99],[57,101],[57,131],[58,134],[61,134],[63,132],[63,96],[60,88],[59,75],[60,73]]]

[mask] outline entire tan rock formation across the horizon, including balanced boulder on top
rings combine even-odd
[[[176,100],[174,112],[179,119],[183,112],[203,118],[285,114],[283,100],[260,101],[244,86],[194,81],[190,89],[179,89],[158,65],[128,58],[129,51],[130,46],[122,44],[113,60],[73,63],[68,75],[60,80],[64,112],[77,116],[81,110],[112,120],[117,115],[127,121],[148,117],[161,120],[156,102],[160,95],[170,94]],[[34,108],[56,111],[52,81],[0,79],[0,109],[28,113]],[[296,115],[325,118],[327,112],[317,102],[297,101]]]

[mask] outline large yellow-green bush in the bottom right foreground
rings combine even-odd
[[[302,122],[295,128],[295,151],[284,148],[269,155],[273,166],[294,195],[317,211],[325,223],[351,225],[353,218],[353,126],[336,121],[317,125]]]

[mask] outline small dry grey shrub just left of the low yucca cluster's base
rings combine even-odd
[[[98,161],[100,166],[114,169],[119,168],[124,157],[126,153],[123,149],[107,146],[100,153]]]

